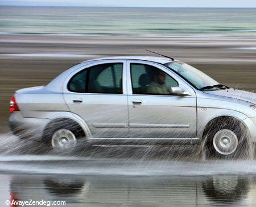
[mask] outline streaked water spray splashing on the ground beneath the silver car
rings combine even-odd
[[[82,144],[82,143],[80,143]],[[79,146],[43,153],[31,139],[1,135],[0,171],[69,175],[219,175],[256,173],[254,160],[201,160],[201,146]]]

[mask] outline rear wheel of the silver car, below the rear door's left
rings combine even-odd
[[[46,127],[42,142],[46,151],[68,153],[77,148],[77,140],[82,138],[85,138],[84,131],[76,122],[63,120]]]

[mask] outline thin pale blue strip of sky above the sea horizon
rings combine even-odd
[[[15,6],[256,7],[256,0],[0,0]]]

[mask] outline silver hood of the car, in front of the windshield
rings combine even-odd
[[[256,104],[256,93],[246,92],[245,90],[227,89],[227,90],[212,90],[204,93],[212,94],[220,97],[233,98],[233,101],[246,101]]]

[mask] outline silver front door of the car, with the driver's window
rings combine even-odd
[[[166,75],[164,86],[153,82],[158,72]],[[185,88],[191,96],[172,96],[166,92],[171,86]],[[130,138],[195,138],[195,92],[166,67],[145,61],[127,61],[127,94]]]

